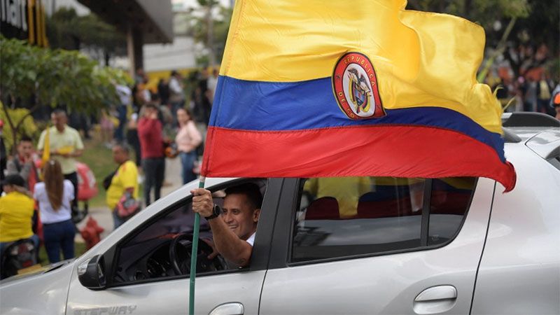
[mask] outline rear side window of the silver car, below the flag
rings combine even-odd
[[[475,182],[395,177],[304,180],[290,261],[444,244],[461,227]]]

